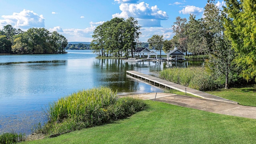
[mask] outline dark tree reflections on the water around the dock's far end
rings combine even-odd
[[[95,72],[92,77],[103,86],[108,86],[118,92],[151,92],[149,86],[139,86],[140,83],[127,79],[126,71],[135,70],[144,74],[158,76],[158,73],[165,68],[201,66],[202,61],[182,62],[125,62],[119,59],[96,59],[93,62]],[[142,85],[142,84],[140,84]],[[145,90],[146,89],[146,90]],[[155,90],[153,90],[155,91]]]

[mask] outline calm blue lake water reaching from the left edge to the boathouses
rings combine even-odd
[[[163,92],[162,89],[126,78],[126,70],[158,76],[164,68],[200,66],[202,62],[140,62],[96,59],[90,50],[68,54],[0,55],[0,134],[31,133],[46,119],[49,102],[78,90],[107,86],[118,94]]]

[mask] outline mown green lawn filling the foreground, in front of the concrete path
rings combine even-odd
[[[148,108],[112,124],[22,144],[252,144],[256,120],[146,100]]]

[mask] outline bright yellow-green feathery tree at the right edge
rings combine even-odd
[[[236,63],[246,80],[256,81],[256,1],[224,0],[225,34],[237,52]]]

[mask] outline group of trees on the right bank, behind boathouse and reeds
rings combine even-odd
[[[174,37],[164,40],[153,35],[150,46],[169,52],[174,47],[193,55],[207,54],[206,68],[216,78],[225,79],[225,88],[239,77],[247,82],[256,81],[256,17],[252,0],[224,0],[226,7],[220,10],[215,0],[208,0],[204,18],[189,20],[176,17],[172,25]]]

